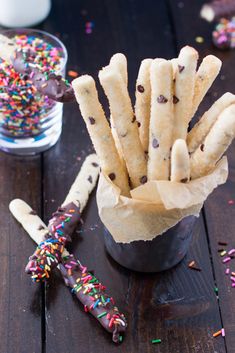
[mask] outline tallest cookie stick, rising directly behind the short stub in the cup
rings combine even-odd
[[[196,66],[198,53],[195,49],[186,46],[178,56],[178,69],[175,73],[175,105],[173,142],[177,139],[186,139],[188,124],[191,119]]]

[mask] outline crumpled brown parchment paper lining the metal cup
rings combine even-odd
[[[182,218],[198,217],[208,195],[227,177],[228,163],[223,157],[207,176],[187,184],[147,182],[133,189],[132,198],[127,198],[101,173],[97,190],[99,215],[117,243],[152,240]]]

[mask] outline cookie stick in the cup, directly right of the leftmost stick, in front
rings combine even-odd
[[[114,67],[103,68],[99,72],[99,79],[109,100],[131,185],[137,187],[147,181],[147,163],[127,87]]]

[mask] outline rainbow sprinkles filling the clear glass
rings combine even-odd
[[[16,35],[12,38],[23,52],[34,53],[34,64],[48,75],[60,72],[63,60],[61,48],[33,35]],[[32,77],[17,73],[12,65],[0,61],[0,126],[8,136],[28,137],[42,132],[55,102],[41,96],[34,87]]]

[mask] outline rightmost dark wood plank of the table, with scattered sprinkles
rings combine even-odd
[[[170,1],[171,10],[174,16],[176,36],[178,46],[186,43],[194,45],[201,56],[214,54],[223,61],[223,66],[219,77],[206,96],[206,99],[200,106],[200,114],[204,112],[217,98],[227,91],[234,92],[234,74],[231,68],[234,65],[234,51],[220,51],[211,44],[211,30],[214,24],[208,24],[206,21],[198,18],[199,10],[204,1],[184,2],[184,7],[179,8],[175,1]],[[179,4],[179,2],[178,2]],[[190,31],[188,28],[190,26]],[[204,43],[196,44],[195,38],[202,36]],[[229,205],[230,199],[234,197],[235,182],[235,143],[230,147],[227,156],[229,161],[229,178],[225,185],[217,188],[205,203],[205,216],[207,221],[208,236],[211,247],[211,256],[214,265],[214,275],[216,285],[220,289],[220,308],[222,314],[223,326],[226,331],[227,352],[234,352],[235,347],[235,310],[234,289],[230,286],[230,281],[224,275],[225,266],[221,264],[221,258],[218,256],[218,241],[225,240],[230,246],[234,247],[234,206]],[[231,269],[235,270],[232,263]],[[219,328],[219,327],[218,327]]]

